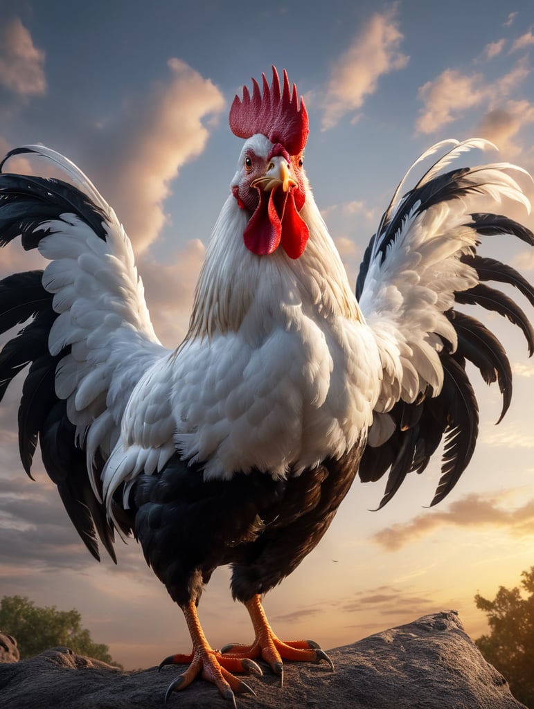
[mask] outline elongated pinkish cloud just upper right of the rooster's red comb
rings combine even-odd
[[[377,90],[380,77],[406,67],[409,57],[399,51],[403,39],[396,5],[370,18],[332,69],[326,88],[323,130],[333,128],[347,113],[358,111],[366,97]]]

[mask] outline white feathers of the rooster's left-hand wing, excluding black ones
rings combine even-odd
[[[105,240],[74,214],[64,213],[42,225],[49,233],[38,245],[50,260],[43,286],[54,294],[53,307],[59,313],[50,329],[49,349],[59,354],[70,345],[56,369],[56,393],[67,400],[67,415],[77,437],[86,442],[89,478],[100,498],[100,484],[92,474],[96,454],[109,457],[120,440],[135,385],[152,364],[168,357],[169,350],[155,335],[130,240],[114,211],[72,162],[42,146],[33,150],[59,165],[105,216]],[[145,442],[151,428],[160,440],[161,424],[153,412],[144,425]],[[168,438],[172,440],[172,431]],[[158,451],[150,460],[159,457]]]

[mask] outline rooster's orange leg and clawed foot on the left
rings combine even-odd
[[[260,666],[247,657],[226,657],[221,652],[213,650],[202,630],[194,601],[188,603],[182,610],[193,641],[193,652],[191,654],[170,655],[160,664],[160,669],[167,664],[189,664],[186,671],[170,683],[165,695],[165,702],[167,702],[172,692],[185,689],[198,675],[213,683],[223,697],[233,703],[234,707],[234,692],[251,692],[255,694],[245,682],[234,677],[232,672],[262,674]]]

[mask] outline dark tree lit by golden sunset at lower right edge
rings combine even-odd
[[[521,589],[501,586],[494,601],[474,597],[488,616],[490,635],[475,642],[485,659],[503,674],[511,692],[534,709],[534,566],[523,571]],[[525,598],[524,593],[530,594]]]

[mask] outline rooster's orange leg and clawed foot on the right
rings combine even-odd
[[[228,657],[235,659],[256,659],[262,657],[272,668],[274,674],[280,676],[280,683],[284,681],[284,663],[282,659],[296,660],[304,662],[320,662],[325,660],[334,669],[333,662],[326,652],[311,640],[291,640],[282,642],[274,635],[272,627],[269,625],[265,610],[263,610],[260,596],[252,596],[250,601],[245,603],[250,613],[250,619],[255,632],[255,640],[252,645],[233,644],[223,647],[221,652],[228,654]]]

